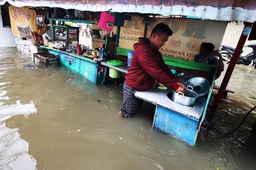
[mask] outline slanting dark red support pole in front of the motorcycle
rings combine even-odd
[[[220,89],[218,91],[218,94],[215,97],[214,102],[212,103],[212,107],[211,107],[211,110],[210,110],[211,113],[215,113],[215,111],[216,111],[216,109],[218,107],[218,104],[221,102],[221,99],[222,99],[222,97],[224,95],[224,92],[225,92],[225,90],[227,88],[227,84],[228,84],[228,82],[230,80],[230,77],[232,75],[232,72],[233,72],[233,70],[235,68],[235,65],[236,65],[236,62],[237,62],[237,60],[239,58],[241,50],[244,47],[244,43],[245,43],[245,41],[247,39],[247,36],[248,36],[248,34],[250,32],[250,28],[251,28],[252,25],[253,25],[253,23],[244,22],[243,32],[242,32],[242,34],[240,36],[240,39],[239,39],[239,41],[238,41],[238,43],[236,45],[236,50],[235,50],[235,52],[233,54],[233,57],[232,57],[229,65],[227,67],[227,71],[226,71],[226,74],[225,74],[225,76],[224,76],[224,78],[222,80],[221,87],[220,87]]]

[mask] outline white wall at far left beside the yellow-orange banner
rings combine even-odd
[[[3,16],[3,17],[9,17],[9,16]],[[12,34],[12,28],[3,28],[1,10],[0,10],[0,47],[16,47],[15,38]]]

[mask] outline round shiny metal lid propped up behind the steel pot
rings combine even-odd
[[[191,86],[198,96],[204,96],[209,92],[210,83],[204,77],[194,77],[186,82],[186,86]]]

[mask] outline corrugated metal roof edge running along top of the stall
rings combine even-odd
[[[256,0],[0,0],[13,6],[47,6],[82,11],[184,15],[210,20],[256,21]]]

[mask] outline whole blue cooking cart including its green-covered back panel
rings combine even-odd
[[[215,80],[215,67],[181,59],[166,57],[164,59],[166,64],[172,64],[172,69],[186,74],[186,76],[179,78],[185,85],[188,85],[189,79],[192,80],[193,77],[204,77],[200,78],[201,80],[207,79],[209,86],[204,89],[204,94],[199,96],[195,100],[195,104],[190,106],[183,105],[182,102],[180,104],[174,102],[172,94],[175,92],[172,89],[161,90],[157,88],[157,85],[154,85],[148,91],[136,91],[134,95],[156,105],[153,127],[193,146],[196,142],[200,126],[206,116]],[[195,90],[198,94],[201,91],[201,80],[196,80],[192,85],[195,89],[199,87],[198,91]]]

